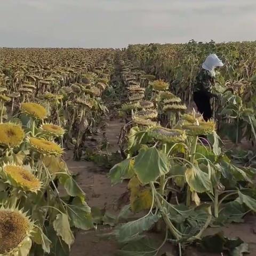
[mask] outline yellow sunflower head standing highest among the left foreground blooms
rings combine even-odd
[[[21,111],[36,119],[45,119],[47,117],[47,110],[37,103],[21,103]]]

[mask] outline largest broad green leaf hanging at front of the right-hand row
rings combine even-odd
[[[169,172],[169,161],[166,154],[155,147],[141,149],[135,158],[134,170],[141,183],[147,184]]]

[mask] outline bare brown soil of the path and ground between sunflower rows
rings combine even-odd
[[[123,123],[119,119],[114,121],[106,120],[106,137],[110,143],[109,151],[115,152],[118,150],[117,141],[118,135]],[[100,136],[100,135],[98,135]],[[101,209],[104,207],[109,211],[114,211],[116,201],[121,194],[126,191],[126,183],[121,185],[111,186],[110,179],[107,177],[106,171],[102,171],[96,164],[92,162],[75,162],[72,159],[72,152],[67,152],[66,162],[71,172],[78,173],[77,181],[79,186],[86,193],[86,201],[92,206],[97,206]],[[256,223],[255,217],[247,217],[244,223],[231,224],[221,230],[228,237],[240,237],[243,241],[249,243],[250,256],[256,256],[256,234],[254,226]],[[220,228],[207,229],[205,235],[214,234]],[[97,230],[79,231],[76,234],[75,244],[71,248],[71,256],[113,256],[116,255],[118,245],[114,239],[102,239],[99,235],[111,231],[110,227],[98,226]],[[159,242],[163,239],[160,234],[151,233],[151,236]],[[166,253],[166,254],[164,254]],[[178,255],[171,244],[166,243],[158,255],[176,256]],[[198,252],[195,248],[188,248],[182,255],[189,256],[226,256],[225,254],[209,254]]]

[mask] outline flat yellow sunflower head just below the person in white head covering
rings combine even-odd
[[[215,123],[212,121],[199,121],[197,124],[185,123],[182,128],[191,136],[207,135],[215,131]]]

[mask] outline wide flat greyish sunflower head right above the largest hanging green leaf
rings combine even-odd
[[[148,134],[151,138],[160,140],[163,143],[183,142],[187,138],[183,130],[172,130],[162,126],[153,127]]]

